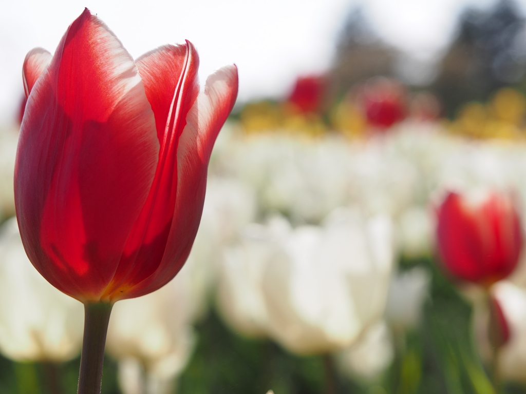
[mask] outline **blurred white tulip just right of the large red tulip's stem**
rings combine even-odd
[[[159,290],[113,307],[106,350],[123,363],[120,375],[127,380],[130,359],[144,370],[146,382],[154,382],[145,384],[173,381],[186,366],[194,344],[190,269],[185,265]],[[168,383],[164,386],[169,389]]]

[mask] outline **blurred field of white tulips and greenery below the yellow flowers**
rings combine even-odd
[[[247,133],[236,119],[221,133],[185,268],[161,291],[115,307],[104,393],[140,392],[140,385],[193,393],[317,393],[328,385],[333,392],[493,392],[478,332],[487,325],[477,318],[482,297],[476,285],[452,282],[441,268],[433,206],[450,185],[513,189],[522,206],[520,139],[475,140],[438,121],[411,119],[356,139]],[[2,358],[0,387],[53,392],[46,382],[55,376],[49,387],[71,392],[82,305],[16,271],[25,264],[31,272],[24,275],[36,274],[13,229],[13,220],[4,222],[2,288],[25,304],[0,310],[0,346],[16,360]],[[507,284],[510,314],[526,307],[521,267]],[[36,279],[46,288],[27,283]],[[322,303],[314,312],[312,296]],[[46,302],[54,303],[54,318],[38,320],[30,305]],[[331,327],[331,316],[342,327]],[[68,326],[68,318],[77,324]],[[525,323],[520,313],[507,319],[517,326],[501,357],[515,369],[501,374],[505,392],[523,392]],[[67,341],[53,338],[57,321],[66,324],[58,332]],[[35,362],[41,359],[59,362]]]

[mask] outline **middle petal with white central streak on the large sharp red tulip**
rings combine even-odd
[[[105,292],[108,297],[151,275],[163,258],[176,204],[179,138],[199,92],[198,65],[197,51],[189,42],[158,48],[137,61],[156,117],[159,162],[148,199]]]

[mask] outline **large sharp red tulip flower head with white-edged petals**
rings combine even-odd
[[[53,57],[27,55],[16,212],[29,260],[64,293],[113,303],[183,266],[238,88],[227,66],[199,93],[198,63],[189,42],[134,62],[87,9]]]

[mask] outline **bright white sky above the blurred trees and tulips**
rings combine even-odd
[[[199,51],[202,82],[216,68],[236,63],[239,100],[246,101],[283,95],[295,76],[328,68],[336,37],[353,5],[364,5],[382,38],[419,56],[447,44],[463,5],[492,2],[6,0],[0,13],[0,124],[13,116],[22,95],[21,68],[27,51],[41,46],[53,53],[85,6],[104,20],[134,57],[187,38]]]

